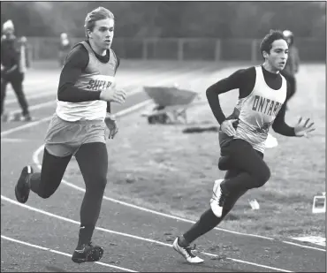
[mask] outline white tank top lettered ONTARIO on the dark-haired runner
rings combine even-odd
[[[255,72],[254,89],[250,95],[239,99],[236,105],[240,110],[240,120],[234,139],[246,140],[263,153],[270,126],[285,102],[287,85],[281,75],[282,86],[274,90],[265,82],[261,66],[255,66]]]

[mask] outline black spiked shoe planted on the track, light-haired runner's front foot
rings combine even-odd
[[[103,247],[92,246],[92,243],[83,245],[82,249],[75,249],[72,262],[97,262],[103,257]]]

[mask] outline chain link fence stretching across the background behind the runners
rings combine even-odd
[[[72,44],[83,40],[71,38]],[[260,42],[253,39],[115,38],[112,49],[127,59],[257,62],[262,60]],[[326,61],[325,40],[297,38],[295,42],[302,62]],[[58,57],[57,37],[29,37],[28,44],[34,60]]]

